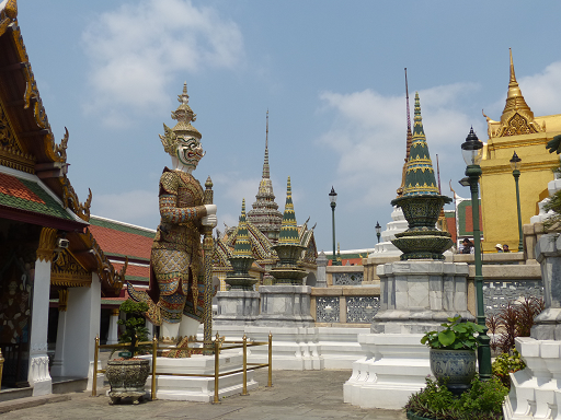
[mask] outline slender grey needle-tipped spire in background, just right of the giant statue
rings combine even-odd
[[[273,183],[270,178],[268,166],[268,109],[265,131],[265,159],[263,162],[263,175],[259,183],[256,201],[252,205],[252,210],[248,212],[248,221],[255,225],[271,242],[278,241],[278,232],[283,222],[283,213],[278,211],[278,205],[275,202],[273,192]]]

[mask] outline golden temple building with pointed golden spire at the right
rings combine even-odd
[[[483,114],[483,116],[485,116]],[[481,205],[484,241],[483,252],[493,252],[495,244],[518,247],[516,186],[510,160],[514,152],[522,159],[519,195],[522,224],[538,213],[537,203],[548,197],[548,182],[559,166],[559,156],[550,154],[546,144],[561,133],[561,115],[535,117],[524,100],[511,69],[506,104],[499,121],[485,116],[489,139],[481,161]]]

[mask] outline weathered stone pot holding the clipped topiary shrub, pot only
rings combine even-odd
[[[127,397],[133,398],[133,404],[141,401],[149,373],[150,362],[146,359],[108,361],[105,377],[111,385],[110,404]]]

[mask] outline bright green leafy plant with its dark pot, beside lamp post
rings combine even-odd
[[[450,392],[456,395],[469,388],[476,375],[476,334],[483,332],[483,327],[461,317],[448,318],[440,324],[440,331],[426,332],[421,342],[430,347],[431,371],[437,380],[445,380]]]

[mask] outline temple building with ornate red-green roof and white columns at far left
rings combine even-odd
[[[88,376],[101,299],[119,295],[127,262],[117,272],[90,231],[92,195],[80,202],[67,176],[68,130],[57,144],[15,0],[0,3],[0,69],[2,390],[45,395]]]

